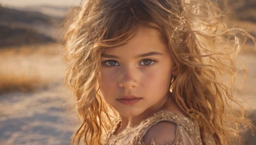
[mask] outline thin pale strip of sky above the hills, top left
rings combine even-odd
[[[79,0],[0,0],[0,4],[10,7],[26,7],[26,6],[72,6],[79,3]]]

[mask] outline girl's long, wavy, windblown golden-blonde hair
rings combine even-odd
[[[65,22],[66,81],[74,91],[82,121],[72,144],[82,138],[85,144],[102,143],[104,132],[113,127],[118,113],[100,94],[100,55],[104,48],[127,43],[142,25],[161,32],[169,46],[177,67],[170,89],[180,109],[198,121],[203,143],[212,137],[216,144],[241,144],[239,125],[252,124],[232,94],[234,59],[241,44],[252,36],[228,29],[216,3],[87,0],[71,14]]]

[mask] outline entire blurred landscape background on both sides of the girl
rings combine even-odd
[[[0,0],[0,144],[70,144],[77,128],[72,93],[63,85],[58,28],[78,0]],[[256,36],[256,1],[230,0],[230,25]],[[237,62],[247,69],[241,91],[256,109],[256,48],[249,41]],[[255,121],[255,120],[254,120]],[[244,144],[256,144],[250,132]]]

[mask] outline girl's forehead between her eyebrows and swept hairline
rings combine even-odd
[[[140,27],[136,34],[122,46],[105,48],[103,53],[145,53],[161,52],[167,53],[168,46],[163,41],[161,33],[150,27]]]

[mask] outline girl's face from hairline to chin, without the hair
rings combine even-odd
[[[142,27],[127,44],[101,55],[100,91],[120,116],[156,111],[166,101],[173,62],[160,33]]]

